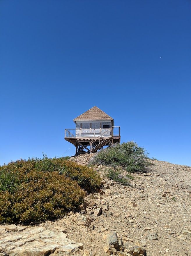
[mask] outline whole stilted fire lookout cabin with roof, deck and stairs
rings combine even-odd
[[[120,127],[114,126],[114,119],[94,106],[73,120],[75,129],[65,130],[65,140],[76,147],[76,155],[94,153],[120,143]]]

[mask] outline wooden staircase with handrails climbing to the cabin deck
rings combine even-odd
[[[99,150],[101,147],[105,146],[109,141],[112,140],[113,135],[112,132],[113,127],[108,129],[106,132],[102,133],[100,136],[95,138],[91,143],[90,143],[90,154],[96,152]],[[106,133],[110,133],[104,140],[101,141],[101,138],[104,138]],[[98,143],[99,142],[99,143]],[[98,144],[97,144],[98,143]],[[95,145],[94,145],[95,144]]]

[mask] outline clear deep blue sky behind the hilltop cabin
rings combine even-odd
[[[190,32],[189,0],[1,0],[0,164],[61,156],[98,106],[122,142],[191,166]]]

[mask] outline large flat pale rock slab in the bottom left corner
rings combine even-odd
[[[18,229],[18,228],[17,228]],[[0,238],[0,248],[4,255],[9,256],[41,256],[53,252],[71,253],[82,243],[67,238],[67,234],[58,230],[46,230],[41,227],[27,227],[22,231],[5,233]]]

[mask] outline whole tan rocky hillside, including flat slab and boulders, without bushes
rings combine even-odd
[[[72,157],[88,164],[91,155]],[[104,177],[79,212],[35,226],[0,226],[0,256],[191,255],[191,167],[150,160],[130,186]]]

